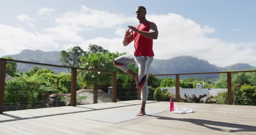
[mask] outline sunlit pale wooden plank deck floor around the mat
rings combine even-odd
[[[140,108],[139,100],[3,112],[0,135],[256,135],[256,106],[174,103],[195,113],[172,114],[169,102],[149,101],[164,110],[118,124],[84,119],[88,112]]]

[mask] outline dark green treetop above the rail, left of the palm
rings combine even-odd
[[[62,50],[60,52],[60,61],[63,62],[64,66],[80,67],[82,61],[80,60],[86,52],[79,46],[69,48],[68,51]]]

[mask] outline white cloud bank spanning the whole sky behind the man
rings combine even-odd
[[[22,20],[30,20],[24,19]],[[256,66],[256,42],[232,43],[221,39],[209,38],[215,32],[210,26],[201,26],[191,19],[178,14],[147,15],[147,19],[158,26],[158,39],[154,40],[154,53],[158,59],[169,59],[190,55],[209,61],[210,64],[224,67],[236,63]],[[33,20],[33,19],[31,19]],[[29,21],[33,23],[33,21]],[[124,47],[122,39],[126,24],[138,24],[135,16],[92,10],[82,6],[80,11],[64,13],[56,18],[56,27],[45,28],[42,32],[28,32],[22,28],[0,25],[0,52],[18,53],[22,49],[62,50],[79,45],[87,50],[90,43],[102,46],[109,51],[133,52],[133,42]],[[102,28],[112,29],[113,38],[95,36],[84,39],[84,32],[102,32]],[[3,30],[2,30],[3,29]],[[6,32],[4,32],[6,31]],[[235,30],[234,30],[235,31]],[[74,44],[75,43],[75,44]],[[15,48],[15,49],[13,49]]]

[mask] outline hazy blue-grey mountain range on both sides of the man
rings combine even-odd
[[[46,63],[46,64],[56,64],[62,65],[62,62],[59,61],[60,58],[60,51],[41,51],[41,50],[30,50],[25,49],[21,51],[19,54],[16,55],[6,55],[3,57],[11,56],[15,60],[20,61],[31,61],[31,62],[38,62],[38,63]],[[20,72],[25,72],[30,70],[35,65],[31,64],[17,64],[17,69]],[[65,68],[59,67],[45,67],[39,66],[42,68],[49,68],[50,70],[54,71],[54,73],[58,74],[60,72],[67,72],[68,70]],[[217,67],[214,64],[210,64],[206,60],[201,60],[198,58],[194,58],[191,56],[179,56],[174,57],[167,60],[160,60],[154,59],[151,64],[150,72],[152,74],[179,74],[179,73],[199,73],[199,72],[220,72],[220,71],[227,71],[227,70],[248,70],[253,67],[249,64],[233,64],[227,67]],[[181,78],[186,77],[200,77],[200,78],[207,78],[207,77],[219,77],[219,74],[201,74],[201,75],[183,75]]]

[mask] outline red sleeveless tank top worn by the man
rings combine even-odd
[[[135,26],[140,31],[149,32],[149,26],[151,22],[141,23]],[[153,39],[148,39],[141,34],[132,32],[134,38],[134,55],[136,56],[154,56],[153,52]]]

